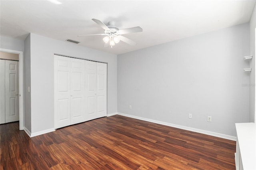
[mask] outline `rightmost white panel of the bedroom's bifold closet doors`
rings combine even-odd
[[[96,112],[98,117],[107,115],[107,64],[96,64]]]

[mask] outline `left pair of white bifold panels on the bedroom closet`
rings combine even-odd
[[[54,128],[84,122],[84,60],[54,55]]]

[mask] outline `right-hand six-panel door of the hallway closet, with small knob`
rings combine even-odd
[[[5,60],[5,123],[19,121],[18,61]]]

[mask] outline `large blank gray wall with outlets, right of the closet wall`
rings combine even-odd
[[[236,136],[249,121],[249,47],[242,24],[118,55],[118,112]]]

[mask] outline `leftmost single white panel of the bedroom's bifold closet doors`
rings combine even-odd
[[[54,55],[54,128],[71,124],[70,58]]]

